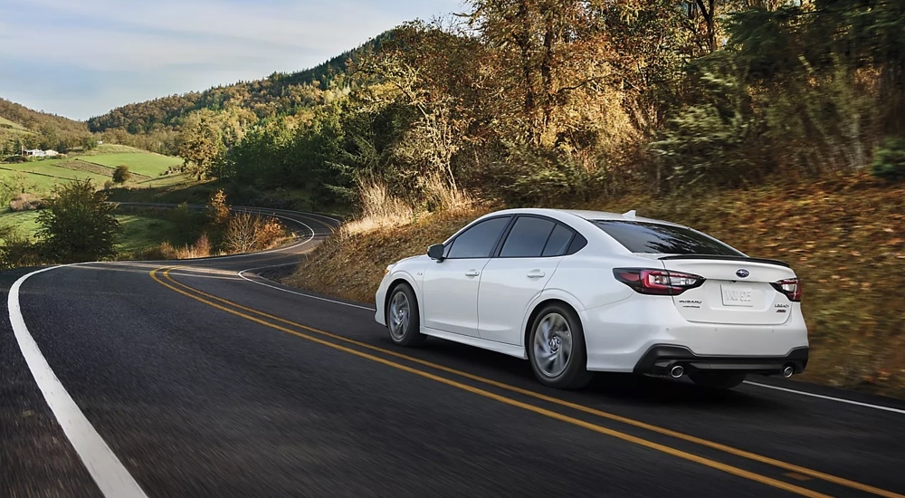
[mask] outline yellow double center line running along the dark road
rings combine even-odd
[[[466,384],[462,384],[460,382],[456,382],[449,378],[443,378],[443,377],[434,375],[432,373],[425,372],[420,369],[414,369],[412,367],[408,367],[401,363],[396,363],[395,361],[391,361],[389,359],[383,359],[380,357],[376,357],[372,354],[368,354],[367,352],[353,350],[351,348],[348,348],[341,344],[337,344],[336,342],[333,342],[330,340],[345,342],[347,344],[357,346],[358,348],[376,351],[381,354],[399,358],[399,359],[405,359],[405,361],[408,361],[408,362],[423,365],[424,367],[428,367],[431,369],[440,370],[440,371],[450,373],[452,375],[459,376],[462,378],[468,378],[468,379],[480,382],[481,384],[492,386],[494,388],[500,388],[500,389],[507,390],[507,391],[510,391],[513,393],[517,393],[519,395],[523,395],[526,397],[533,397],[538,400],[552,403],[552,404],[555,404],[555,405],[558,405],[561,407],[571,408],[576,411],[580,411],[580,412],[583,412],[583,413],[586,413],[589,415],[593,415],[595,417],[603,417],[603,418],[606,418],[609,420],[613,420],[614,422],[619,422],[619,423],[622,423],[622,424],[625,424],[628,426],[639,427],[639,428],[651,431],[653,433],[661,434],[663,436],[670,436],[670,437],[674,437],[676,439],[680,439],[682,441],[686,441],[686,442],[693,443],[696,445],[701,445],[701,446],[705,446],[705,447],[708,447],[711,449],[719,450],[719,451],[727,453],[729,455],[739,456],[739,457],[746,458],[748,460],[758,462],[761,464],[773,465],[775,467],[784,469],[789,472],[793,472],[795,474],[802,474],[802,475],[805,475],[808,477],[813,477],[815,479],[823,480],[828,483],[838,484],[838,485],[841,485],[844,487],[848,487],[848,488],[862,491],[865,493],[876,494],[878,496],[883,496],[883,497],[887,497],[887,498],[905,498],[905,495],[902,495],[899,493],[892,493],[890,491],[886,491],[881,488],[877,488],[877,487],[874,487],[874,486],[871,486],[868,484],[857,483],[857,482],[854,482],[854,481],[851,481],[848,479],[844,479],[842,477],[837,477],[832,474],[825,474],[825,473],[815,471],[815,470],[812,470],[812,469],[809,469],[807,467],[803,467],[800,465],[789,464],[789,463],[783,462],[781,460],[776,460],[775,458],[770,458],[768,456],[757,455],[755,453],[741,450],[741,449],[738,449],[738,448],[735,448],[735,447],[732,447],[729,445],[722,445],[719,443],[715,443],[713,441],[709,441],[707,439],[702,439],[700,437],[690,436],[690,435],[687,435],[687,434],[684,434],[684,433],[681,433],[678,431],[674,431],[672,429],[667,429],[667,428],[664,428],[661,426],[654,426],[652,424],[647,424],[647,423],[644,423],[644,422],[641,422],[638,420],[634,420],[633,418],[621,417],[621,416],[614,415],[614,414],[611,414],[611,413],[608,413],[605,411],[601,411],[601,410],[598,410],[598,409],[595,409],[592,407],[585,407],[583,405],[571,403],[569,401],[559,399],[557,397],[549,397],[549,396],[546,396],[543,394],[536,393],[534,391],[530,391],[528,389],[517,388],[515,386],[510,386],[509,384],[504,384],[502,382],[492,380],[490,378],[483,378],[481,376],[473,375],[471,373],[464,372],[462,370],[451,369],[449,367],[444,367],[443,365],[432,363],[430,361],[425,361],[424,359],[413,358],[413,357],[407,356],[405,354],[401,354],[401,353],[393,351],[393,350],[385,350],[383,348],[379,348],[379,347],[373,346],[371,344],[367,344],[366,342],[348,339],[346,337],[342,337],[337,334],[333,334],[333,333],[330,333],[330,332],[327,332],[324,330],[314,329],[307,325],[302,325],[302,324],[294,322],[294,321],[285,320],[281,317],[274,316],[269,313],[265,313],[263,311],[257,311],[252,308],[248,308],[246,306],[238,304],[236,302],[228,301],[223,298],[214,296],[212,294],[199,291],[193,287],[186,285],[185,283],[176,282],[176,280],[174,280],[173,277],[170,276],[169,273],[172,272],[173,270],[176,270],[177,268],[178,267],[170,267],[168,269],[167,269],[167,267],[158,268],[156,270],[151,271],[149,274],[150,274],[151,278],[154,279],[155,282],[160,283],[161,285],[167,287],[168,289],[171,289],[172,291],[183,294],[186,297],[194,299],[195,301],[204,302],[205,304],[212,306],[218,310],[226,311],[233,315],[240,316],[246,320],[260,323],[264,326],[270,327],[271,329],[281,330],[283,332],[290,333],[290,334],[300,337],[302,339],[311,340],[318,344],[327,346],[329,348],[333,348],[334,350],[340,350],[343,352],[347,352],[347,353],[353,354],[359,358],[376,361],[377,363],[381,363],[388,367],[404,370],[406,372],[412,373],[414,375],[417,375],[417,376],[420,376],[423,378],[430,378],[431,380],[440,382],[442,384],[451,386],[453,388],[459,388],[459,389],[471,392],[473,394],[477,394],[482,397],[488,397],[493,400],[499,401],[500,403],[509,405],[511,407],[519,407],[519,408],[528,410],[530,412],[536,413],[538,415],[554,418],[554,419],[557,419],[557,420],[560,420],[563,422],[567,422],[567,423],[575,425],[575,426],[580,426],[580,427],[586,428],[588,430],[594,431],[599,434],[605,434],[606,436],[612,436],[617,439],[621,439],[623,441],[633,443],[635,445],[641,445],[641,446],[644,446],[644,447],[647,447],[647,448],[650,448],[650,449],[653,449],[656,451],[660,451],[667,455],[677,456],[684,460],[695,462],[697,464],[706,465],[710,468],[717,469],[719,471],[726,472],[728,474],[737,475],[738,477],[743,477],[745,479],[749,479],[751,481],[754,481],[754,482],[757,482],[760,484],[767,484],[767,485],[770,485],[770,486],[773,486],[778,489],[782,489],[782,490],[785,490],[785,491],[788,491],[791,493],[797,493],[802,496],[813,496],[813,497],[828,496],[826,494],[817,493],[815,491],[806,489],[804,487],[801,487],[801,486],[798,486],[795,484],[790,484],[790,483],[786,483],[784,481],[779,481],[777,479],[773,479],[771,477],[767,477],[766,475],[756,474],[756,473],[738,468],[733,465],[723,464],[716,460],[711,460],[710,458],[706,458],[706,457],[703,457],[700,455],[693,455],[691,453],[673,448],[672,446],[654,443],[653,441],[648,441],[641,437],[625,434],[623,432],[616,431],[609,427],[598,426],[598,425],[586,422],[584,420],[580,420],[575,417],[568,417],[567,415],[563,415],[563,414],[557,413],[552,410],[548,410],[543,407],[536,407],[534,405],[524,403],[517,399],[500,396],[499,394],[495,394],[495,393],[492,393],[490,391],[487,391],[487,390],[484,390],[481,388],[475,388],[475,387],[472,387],[472,386],[469,386]],[[157,273],[159,273],[161,270],[165,270],[165,269],[166,269],[166,271],[164,271],[162,273],[162,278],[160,276],[158,276]],[[166,280],[166,282],[165,282],[165,280]],[[207,299],[205,299],[205,298],[207,298]],[[218,302],[220,304],[218,304]],[[239,311],[239,310],[241,310],[241,311]],[[247,311],[247,313],[243,312],[243,311]],[[252,314],[248,314],[248,313],[252,313]],[[257,316],[253,316],[253,315],[257,315]],[[262,320],[262,318],[259,318],[259,317],[266,318],[270,321]],[[307,333],[302,333],[298,330],[292,330],[292,329],[286,328],[284,326],[278,325],[276,323],[272,323],[271,321],[283,323],[283,324],[289,325],[295,329],[308,330],[310,332],[313,332],[313,333],[319,335],[320,337],[316,337],[314,335],[310,335]],[[321,337],[329,338],[330,340],[324,340],[324,339],[321,339]]]

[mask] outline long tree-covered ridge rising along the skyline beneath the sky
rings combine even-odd
[[[379,34],[357,48],[341,53],[317,67],[292,73],[274,72],[257,81],[240,81],[206,91],[161,97],[125,105],[88,120],[94,132],[123,130],[130,134],[149,134],[179,129],[186,116],[195,110],[222,110],[236,106],[251,110],[259,119],[291,114],[318,103],[319,91],[346,74],[346,62],[362,54],[374,53],[392,37],[392,30]]]

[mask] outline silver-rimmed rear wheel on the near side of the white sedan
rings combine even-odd
[[[580,389],[593,377],[581,320],[565,304],[551,303],[537,313],[526,347],[534,376],[545,386]]]

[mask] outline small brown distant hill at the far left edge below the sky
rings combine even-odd
[[[66,151],[95,143],[88,124],[0,99],[0,156],[22,148]]]

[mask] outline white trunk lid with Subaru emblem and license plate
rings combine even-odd
[[[786,263],[745,256],[670,255],[663,269],[704,277],[700,287],[672,296],[687,321],[732,325],[780,325],[792,302],[771,285],[795,278]]]

